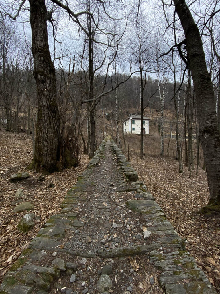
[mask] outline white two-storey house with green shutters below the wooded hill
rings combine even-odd
[[[143,134],[149,134],[149,121],[150,118],[143,117]],[[141,116],[131,114],[124,121],[124,133],[140,134],[141,133]]]

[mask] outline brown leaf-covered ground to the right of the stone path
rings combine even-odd
[[[131,165],[148,191],[165,212],[167,219],[185,240],[187,250],[197,266],[220,293],[220,215],[205,217],[200,209],[209,202],[206,172],[199,167],[198,176],[188,168],[178,173],[174,158],[130,156]]]

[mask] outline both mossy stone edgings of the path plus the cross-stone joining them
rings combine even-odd
[[[101,158],[104,158],[104,146],[105,140],[95,151],[87,169],[78,176],[77,183],[67,192],[61,204],[61,213],[50,217],[38,235],[33,238],[29,248],[24,250],[21,257],[12,265],[0,287],[0,294],[48,294],[50,286],[54,279],[60,276],[61,271],[65,271],[66,268],[76,268],[76,264],[55,258],[55,255],[53,255],[55,258],[54,268],[36,266],[31,263],[32,260],[38,261],[47,255],[46,251],[57,251],[88,258],[114,258],[148,254],[150,262],[162,272],[159,282],[165,293],[216,294],[202,270],[197,268],[194,258],[185,251],[184,241],[167,221],[163,210],[154,201],[155,199],[147,191],[144,183],[138,181],[137,172],[131,167],[113,140],[111,140],[111,146],[117,162],[132,186],[132,188],[120,191],[136,191],[136,198],[144,199],[128,200],[126,204],[129,209],[142,214],[146,221],[147,230],[150,234],[155,235],[156,241],[149,245],[98,250],[97,253],[62,248],[60,240],[65,236],[65,229],[74,231],[77,227],[84,226],[83,222],[77,220],[77,213],[72,212],[72,209],[77,207],[79,202],[87,201],[87,187],[93,185],[88,179],[92,169],[99,164]],[[188,282],[189,279],[190,282]]]

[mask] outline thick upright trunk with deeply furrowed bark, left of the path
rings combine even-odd
[[[37,85],[38,113],[35,152],[31,168],[53,172],[60,159],[60,118],[56,99],[55,69],[51,61],[47,10],[44,0],[29,0],[32,31],[33,75]]]

